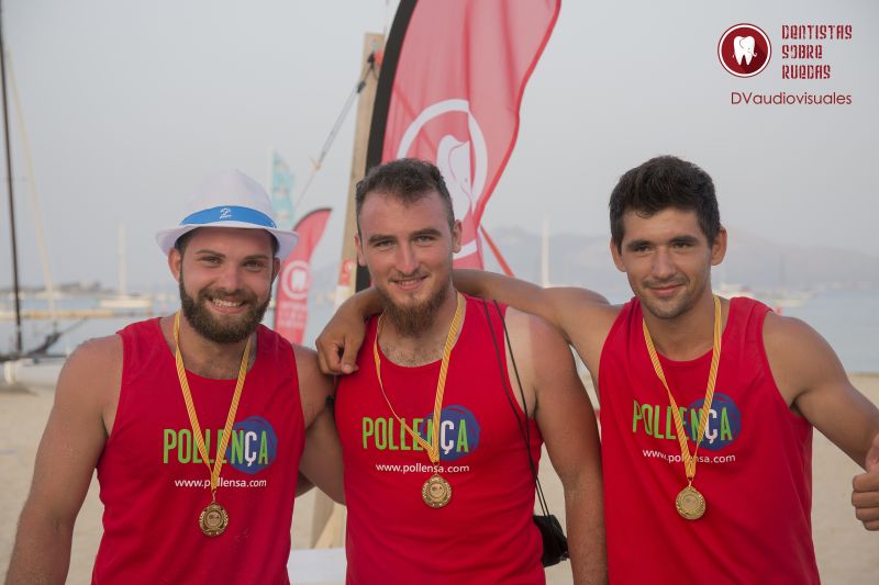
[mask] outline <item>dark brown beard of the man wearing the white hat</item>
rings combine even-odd
[[[247,311],[241,315],[234,315],[227,323],[220,323],[208,310],[211,296],[230,296],[244,302]],[[247,339],[263,322],[263,316],[268,308],[269,299],[264,303],[257,303],[256,295],[235,291],[230,294],[227,291],[202,289],[197,297],[192,297],[186,292],[183,285],[183,274],[180,273],[180,306],[183,316],[196,331],[215,344],[236,344]]]

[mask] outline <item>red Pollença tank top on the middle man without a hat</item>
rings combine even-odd
[[[534,480],[501,381],[503,375],[513,387],[501,318],[492,305],[489,310],[502,368],[481,301],[467,299],[441,418],[438,465],[452,485],[452,500],[437,509],[421,496],[433,474],[427,453],[401,429],[379,390],[372,357],[377,319],[369,323],[359,370],[342,379],[335,405],[345,460],[349,584],[544,583],[541,537],[532,520]],[[390,403],[429,441],[438,374],[438,361],[404,368],[381,356]],[[524,414],[513,404],[521,420]],[[527,425],[536,463],[543,439],[534,420]]]

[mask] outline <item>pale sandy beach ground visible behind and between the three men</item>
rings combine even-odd
[[[853,374],[852,381],[875,404],[879,404],[879,374]],[[34,385],[25,391],[0,391],[0,575],[5,575],[15,524],[27,496],[34,455],[53,402],[53,389]],[[879,575],[879,533],[867,532],[854,518],[849,504],[852,477],[860,468],[839,452],[823,436],[815,434],[813,466],[813,532],[819,569],[824,583],[859,585],[877,583]],[[564,518],[565,509],[558,479],[549,465],[541,472],[549,507]],[[311,537],[313,495],[297,502],[293,548],[304,548]],[[90,582],[91,564],[101,538],[101,504],[92,481],[74,533],[70,572],[67,582]],[[547,571],[547,583],[570,583],[568,563]]]

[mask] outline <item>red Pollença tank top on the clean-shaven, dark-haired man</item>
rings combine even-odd
[[[687,485],[668,394],[642,331],[642,307],[623,306],[599,370],[608,569],[613,583],[819,583],[812,544],[812,427],[778,392],[763,344],[769,311],[733,299],[722,337],[693,487],[706,511],[686,520]],[[660,356],[683,410],[690,451],[711,351],[692,361]]]

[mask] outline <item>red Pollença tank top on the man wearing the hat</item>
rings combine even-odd
[[[104,535],[92,583],[289,583],[290,522],[304,441],[292,347],[257,331],[225,452],[216,502],[229,511],[218,537],[199,528],[211,503],[207,465],[192,439],[174,355],[158,319],[119,333],[124,349],[119,407],[98,463]],[[187,372],[211,463],[235,380]]]

